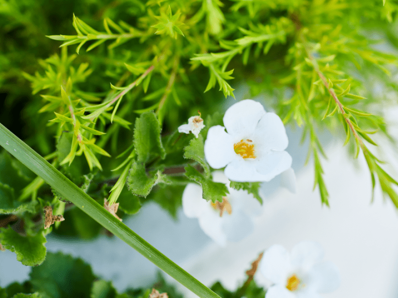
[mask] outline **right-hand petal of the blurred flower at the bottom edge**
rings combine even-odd
[[[332,262],[315,264],[308,272],[311,288],[319,293],[330,293],[340,286],[340,273]]]

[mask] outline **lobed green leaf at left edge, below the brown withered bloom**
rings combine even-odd
[[[35,236],[21,236],[12,228],[0,228],[1,245],[16,253],[16,259],[25,266],[36,266],[46,258],[46,237],[43,232]]]

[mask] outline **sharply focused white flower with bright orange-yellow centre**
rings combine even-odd
[[[270,181],[292,165],[285,149],[288,136],[281,118],[267,113],[251,99],[232,105],[223,118],[225,128],[216,125],[207,133],[204,155],[212,168],[224,166],[233,181]]]

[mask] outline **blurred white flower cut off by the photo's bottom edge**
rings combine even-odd
[[[322,258],[322,247],[312,241],[298,243],[291,253],[281,245],[271,246],[260,263],[260,272],[274,283],[265,298],[321,298],[318,293],[336,290],[338,269]]]

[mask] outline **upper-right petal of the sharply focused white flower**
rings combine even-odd
[[[275,113],[266,113],[260,119],[251,138],[262,152],[283,151],[289,144],[285,126]]]

